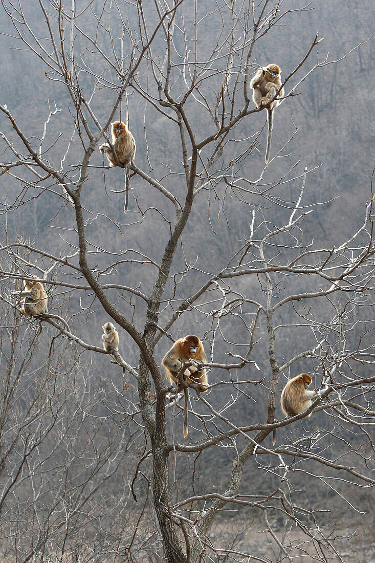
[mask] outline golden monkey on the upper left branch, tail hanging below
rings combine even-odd
[[[125,169],[126,193],[124,213],[126,213],[129,204],[129,168],[132,160],[134,160],[135,157],[136,144],[133,135],[123,121],[115,121],[114,123],[112,123],[111,134],[112,144],[116,151],[118,161],[123,165],[123,168]],[[107,143],[101,145],[99,147],[99,150],[101,154],[105,154],[108,158],[110,167],[119,166],[115,155],[113,154],[113,150]]]

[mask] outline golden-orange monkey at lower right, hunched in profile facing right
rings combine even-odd
[[[293,377],[283,388],[280,403],[285,417],[294,417],[296,414],[305,412],[311,406],[312,397],[319,395],[318,391],[307,391],[311,385],[311,377],[308,373],[300,373]],[[310,414],[307,414],[310,417]],[[272,443],[276,441],[276,428],[273,431]]]

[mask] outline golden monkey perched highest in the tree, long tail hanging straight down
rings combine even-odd
[[[284,96],[284,88],[282,88],[276,100],[269,103],[282,85],[280,72],[280,67],[278,65],[270,64],[265,68],[259,69],[250,82],[250,86],[253,88],[253,100],[257,107],[261,108],[262,106],[267,106],[267,104],[269,104],[267,106],[268,133],[265,157],[266,164],[270,158],[274,108],[277,108],[277,106],[280,105],[281,100],[279,98]]]

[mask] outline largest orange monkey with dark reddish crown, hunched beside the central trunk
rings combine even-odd
[[[177,375],[182,365],[189,362],[190,360],[195,360],[199,363],[207,363],[207,356],[204,352],[203,344],[199,340],[198,336],[194,334],[189,334],[184,338],[178,338],[173,344],[172,348],[168,350],[167,354],[162,359],[162,364],[166,369],[166,376],[171,381],[171,383],[177,383],[178,391],[181,391],[181,384],[178,381]],[[182,374],[184,381],[189,383],[197,383],[199,391],[207,391],[207,372],[204,368],[197,368],[195,365],[191,365],[189,368],[185,369]],[[184,387],[184,437],[187,436],[187,428],[189,426],[187,420],[187,411],[189,409],[189,389]]]

